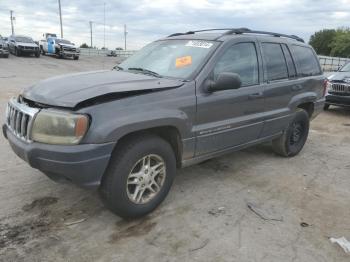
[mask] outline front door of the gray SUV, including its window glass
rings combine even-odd
[[[241,88],[208,93],[197,87],[196,156],[258,139],[264,122],[259,60],[256,42],[228,46],[209,79],[215,82],[220,73],[236,73],[241,78]]]

